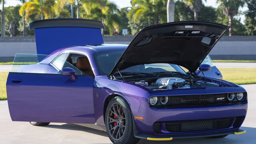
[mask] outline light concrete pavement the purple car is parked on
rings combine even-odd
[[[242,85],[248,92],[248,113],[242,125],[246,134],[226,138],[183,138],[161,144],[256,144],[256,84]],[[28,122],[12,122],[7,101],[0,101],[0,144],[111,144],[106,132],[75,124],[51,123],[32,126]],[[159,144],[140,140],[138,144]]]

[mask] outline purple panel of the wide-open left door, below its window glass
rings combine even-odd
[[[6,90],[13,121],[94,124],[94,78],[58,74],[8,75]]]

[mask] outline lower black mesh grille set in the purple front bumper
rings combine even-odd
[[[186,120],[166,122],[168,132],[196,132],[230,128],[234,118],[217,118],[206,120]]]

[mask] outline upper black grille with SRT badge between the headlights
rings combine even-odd
[[[191,106],[229,102],[227,99],[227,94],[169,96],[169,98],[170,106]]]

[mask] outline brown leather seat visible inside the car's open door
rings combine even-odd
[[[92,76],[93,78],[94,73],[92,71],[90,62],[88,60],[87,57],[79,57],[76,60],[76,68],[78,68],[79,70],[83,71],[85,74],[88,74],[89,76]]]

